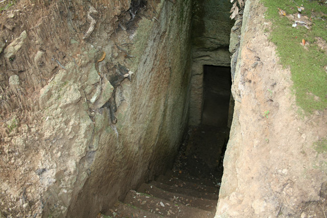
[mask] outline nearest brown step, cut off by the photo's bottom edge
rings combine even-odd
[[[104,217],[147,217],[147,218],[160,218],[165,217],[155,213],[151,213],[148,210],[137,208],[130,204],[117,202],[112,209],[105,215],[99,215],[99,218]]]

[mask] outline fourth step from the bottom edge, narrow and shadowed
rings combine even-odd
[[[192,190],[188,188],[183,187],[176,187],[175,185],[168,185],[162,182],[152,181],[150,183],[151,185],[154,185],[160,189],[169,191],[169,192],[175,192],[175,193],[181,193],[182,195],[188,195],[193,196],[196,198],[205,198],[209,200],[218,200],[218,195],[210,192],[203,192],[198,190]]]

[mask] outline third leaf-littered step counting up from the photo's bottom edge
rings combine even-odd
[[[162,190],[154,185],[143,183],[138,189],[138,192],[147,193],[156,198],[165,199],[174,203],[182,203],[186,206],[199,208],[202,210],[216,212],[217,200],[201,199],[193,196],[182,195]]]

